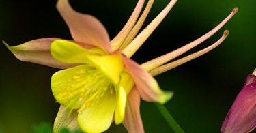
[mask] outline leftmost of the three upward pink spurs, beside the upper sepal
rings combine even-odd
[[[141,12],[141,9],[143,8],[145,0],[139,0],[134,11],[132,12],[132,15],[130,16],[129,20],[127,21],[126,25],[124,25],[123,29],[115,36],[113,40],[111,40],[111,47],[112,50],[116,50],[119,48],[119,46],[122,44],[130,30],[132,30],[132,27],[136,23],[139,14]]]

